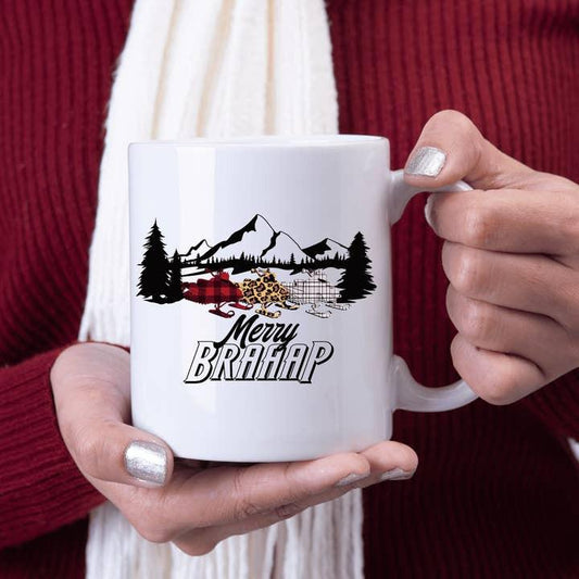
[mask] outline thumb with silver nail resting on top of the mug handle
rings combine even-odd
[[[404,168],[404,180],[426,190],[460,179],[474,189],[525,188],[536,175],[484,139],[457,111],[430,117]]]

